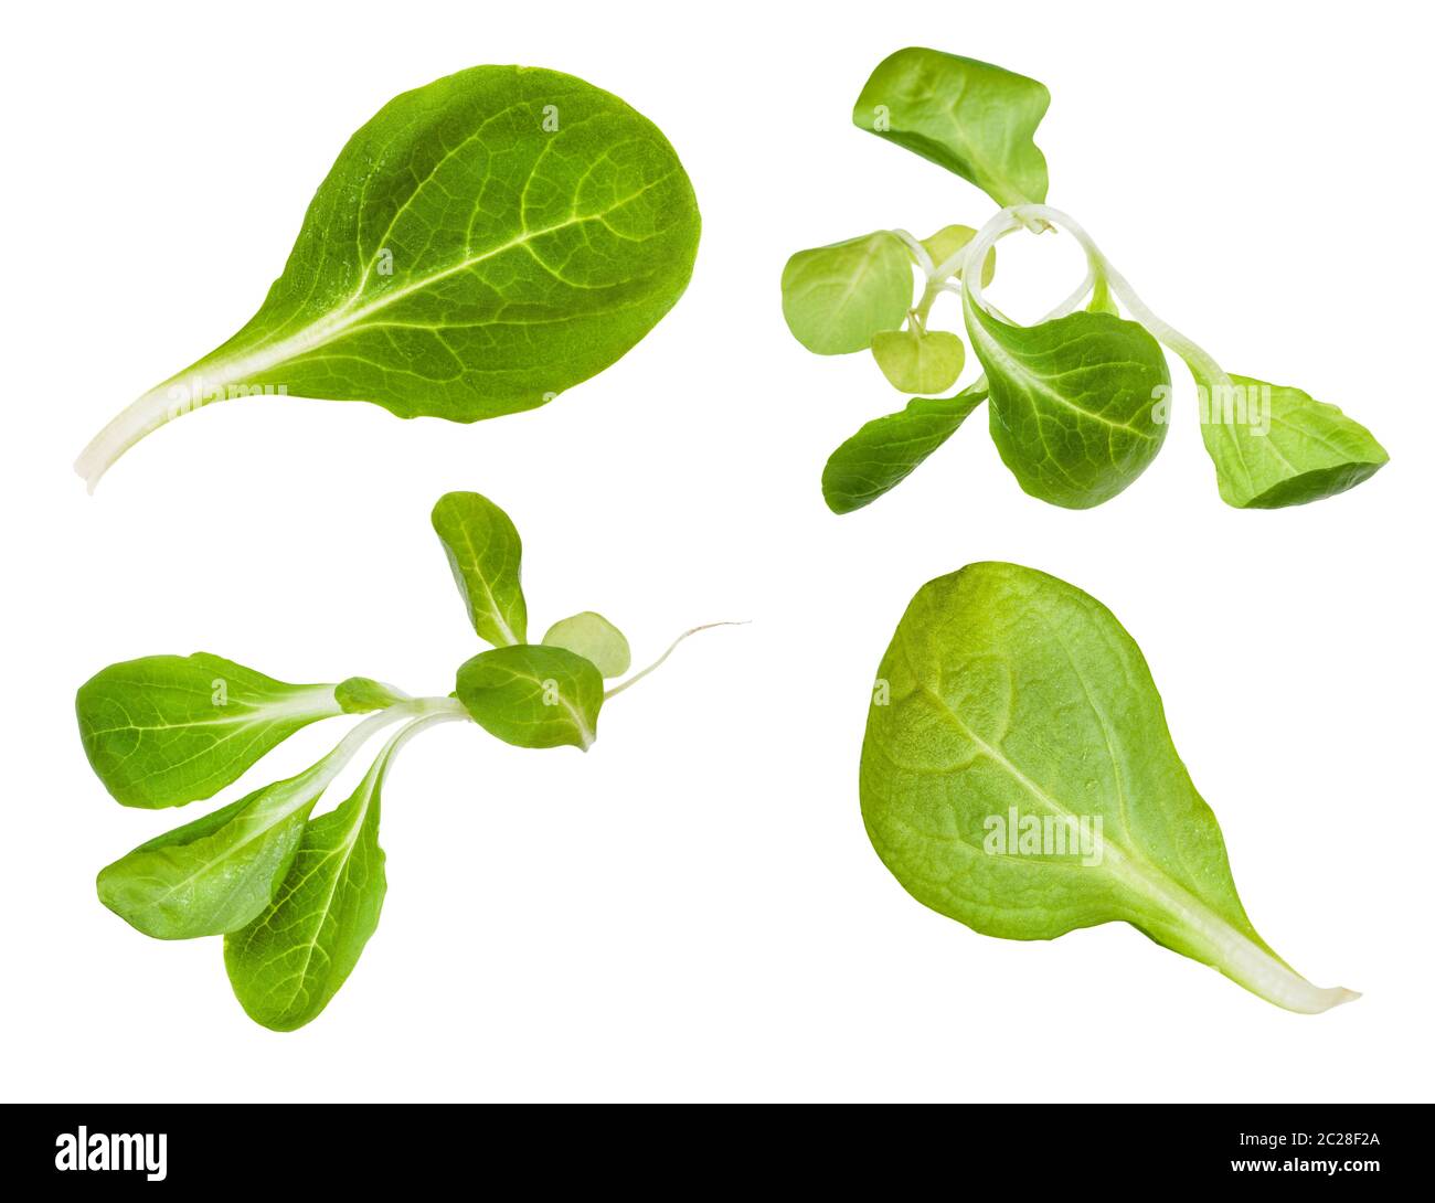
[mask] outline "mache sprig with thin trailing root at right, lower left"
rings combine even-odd
[[[76,695],[90,767],[116,801],[145,810],[210,798],[311,722],[366,715],[298,775],[166,831],[99,873],[100,902],[146,936],[224,936],[234,993],[265,1028],[314,1019],[379,925],[379,804],[405,744],[430,726],[471,721],[519,748],[587,751],[604,702],[706,629],[610,685],[631,656],[601,614],[561,619],[540,643],[528,642],[522,544],[502,510],[476,492],[449,492],[433,507],[433,530],[474,630],[492,645],[459,666],[449,696],[415,698],[360,676],[290,685],[207,652],[110,665]],[[311,817],[385,729],[392,734],[354,792]]]

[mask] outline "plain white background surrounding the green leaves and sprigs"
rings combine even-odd
[[[50,4],[10,9],[0,1092],[23,1100],[1412,1100],[1432,1035],[1429,30],[1313,4]],[[1220,502],[1188,379],[1159,459],[1088,512],[963,429],[858,514],[828,452],[901,405],[788,334],[786,256],[993,204],[858,132],[904,45],[1043,80],[1050,200],[1231,370],[1366,422],[1392,462],[1277,512]],[[684,299],[555,403],[475,426],[240,401],[69,464],[232,333],[343,141],[475,63],[557,67],[656,121],[705,218]],[[1003,243],[992,299],[1066,293]],[[949,310],[954,320],[954,310]],[[445,726],[385,797],[389,897],[293,1035],[218,940],[146,940],[93,876],[182,821],[112,802],[75,688],[212,650],[290,680],[446,692],[476,645],[428,512],[504,505],[534,626],[597,609],[639,662],[587,757]],[[923,909],[862,830],[867,691],[907,600],[982,558],[1055,573],[1141,643],[1247,909],[1320,985],[1290,1015],[1111,925],[1052,943]],[[241,785],[309,762],[311,728]],[[336,797],[344,790],[336,787]],[[225,798],[237,795],[227,794]],[[198,813],[205,804],[197,804]],[[192,817],[192,815],[189,815]]]

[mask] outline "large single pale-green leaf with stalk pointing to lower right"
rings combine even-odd
[[[977,932],[1125,920],[1292,1011],[1355,996],[1256,933],[1141,650],[1045,573],[971,564],[923,586],[878,669],[861,795],[897,880]]]

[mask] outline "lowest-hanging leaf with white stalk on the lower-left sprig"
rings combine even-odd
[[[317,1018],[379,926],[386,880],[379,800],[397,749],[423,726],[400,728],[349,797],[304,824],[274,902],[224,937],[224,968],[251,1019],[291,1032]]]

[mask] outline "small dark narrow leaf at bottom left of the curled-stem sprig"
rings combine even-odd
[[[917,396],[905,409],[874,418],[827,461],[822,497],[828,508],[850,514],[901,484],[983,401],[986,382],[980,380],[956,396]]]

